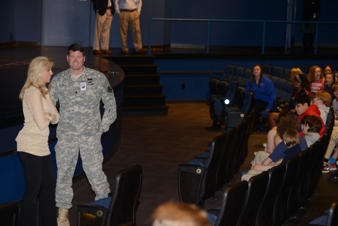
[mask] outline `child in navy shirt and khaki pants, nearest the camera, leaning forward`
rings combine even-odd
[[[295,157],[295,155],[300,153],[301,151],[300,135],[298,133],[298,130],[291,128],[285,131],[285,133],[282,135],[282,138],[283,138],[282,143],[284,143],[287,148],[283,152],[278,153],[279,155],[276,155],[275,156],[276,158],[272,157],[275,159],[278,158],[278,160],[275,160],[275,161],[271,160],[269,161],[270,163],[268,164],[265,163],[265,161],[263,161],[262,164],[253,165],[253,168],[249,170],[247,174],[242,176],[242,180],[248,181],[254,175],[258,175],[262,173],[263,171],[273,168],[276,165],[280,165],[280,163],[285,163],[286,160],[293,158]],[[271,155],[273,155],[274,153],[277,153],[277,152],[273,152]]]

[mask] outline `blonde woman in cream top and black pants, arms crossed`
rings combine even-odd
[[[25,121],[16,143],[26,182],[19,225],[36,225],[37,215],[39,225],[57,225],[56,179],[48,148],[48,125],[58,123],[59,114],[46,88],[53,75],[53,65],[44,56],[34,58],[19,95]]]

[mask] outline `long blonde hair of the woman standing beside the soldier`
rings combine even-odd
[[[38,88],[41,91],[42,96],[46,97],[48,90],[45,87],[41,87],[39,85],[40,75],[43,71],[47,71],[48,69],[53,68],[53,66],[54,62],[46,56],[38,56],[36,58],[33,58],[28,66],[26,82],[23,85],[23,88],[21,88],[21,92],[19,94],[20,100],[23,99],[23,95],[25,94],[26,89],[31,86]]]

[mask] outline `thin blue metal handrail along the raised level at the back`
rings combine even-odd
[[[316,24],[315,30],[315,55],[317,55],[317,38],[318,38],[318,27],[319,24],[338,24],[338,22],[332,21],[267,21],[267,20],[237,20],[237,19],[169,19],[169,18],[152,18],[149,20],[149,34],[148,34],[148,54],[152,53],[151,51],[151,41],[152,41],[152,22],[153,21],[189,21],[189,22],[207,22],[207,31],[206,31],[206,53],[209,53],[209,43],[210,43],[210,24],[211,22],[236,22],[236,23],[260,23],[263,24],[263,40],[262,40],[262,54],[265,53],[265,29],[266,24]]]

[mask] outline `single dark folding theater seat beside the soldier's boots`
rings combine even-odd
[[[78,205],[78,226],[136,225],[136,212],[142,187],[142,167],[120,171],[112,195]]]

